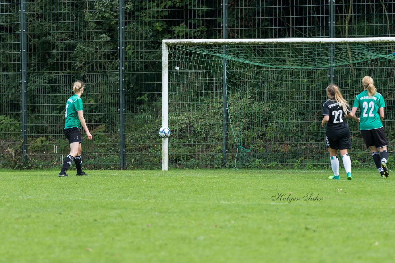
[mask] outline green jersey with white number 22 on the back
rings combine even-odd
[[[352,106],[361,110],[359,123],[361,130],[380,129],[383,127],[378,109],[384,108],[386,103],[384,103],[384,98],[380,93],[376,92],[376,95],[369,96],[367,90],[362,91],[355,97]]]

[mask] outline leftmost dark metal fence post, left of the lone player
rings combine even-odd
[[[20,3],[20,22],[21,22],[21,34],[20,34],[20,47],[21,47],[21,92],[22,92],[22,155],[27,161],[28,153],[28,140],[27,140],[27,45],[26,45],[26,0],[21,0]]]

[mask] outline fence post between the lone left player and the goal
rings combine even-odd
[[[120,112],[120,169],[125,167],[125,1],[119,0],[119,112]]]

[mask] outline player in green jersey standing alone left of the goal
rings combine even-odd
[[[85,86],[81,81],[76,81],[73,84],[74,95],[71,96],[66,102],[66,121],[64,125],[64,134],[70,143],[70,153],[66,156],[63,162],[62,170],[58,177],[67,177],[67,170],[71,165],[71,162],[75,162],[77,168],[77,175],[87,175],[82,171],[82,160],[81,160],[81,125],[87,132],[88,140],[92,139],[87,123],[83,116],[83,103],[81,95],[84,92]]]

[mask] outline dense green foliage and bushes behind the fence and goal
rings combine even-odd
[[[327,15],[322,15],[330,14],[327,4],[290,8],[290,2],[285,0],[276,3],[266,0],[228,2],[230,38],[329,35]],[[88,148],[87,162],[92,167],[103,168],[103,163],[116,168],[120,155],[119,78],[124,78],[127,166],[160,167],[161,139],[156,133],[160,127],[161,110],[161,40],[224,37],[221,4],[221,1],[126,0],[123,9],[124,52],[120,53],[119,18],[122,9],[119,9],[119,0],[26,1],[24,13],[20,11],[19,2],[4,1],[0,4],[2,165],[12,168],[31,167],[29,162],[59,165],[61,154],[68,151],[62,134],[64,103],[71,94],[71,83],[78,79],[87,84],[84,114],[89,128],[97,134],[94,138],[97,147]],[[391,8],[390,3],[385,2],[354,4],[351,9],[353,15],[346,23],[350,9],[348,4],[340,3],[336,6],[339,19],[335,35],[345,36],[346,32],[348,36],[394,35],[394,28],[389,26],[393,24]],[[23,53],[27,62],[26,93],[21,93],[21,14],[26,14],[27,26],[27,50]],[[311,17],[314,19],[308,19]],[[283,57],[288,55],[286,49],[283,51]],[[222,65],[223,50],[220,49],[219,53],[220,56],[213,61],[215,65]],[[255,59],[253,62],[256,64],[265,62],[257,59],[255,53],[252,50],[245,57]],[[124,76],[120,76],[119,58],[123,55]],[[222,167],[225,165],[222,160],[223,101],[221,91],[218,93],[222,87],[222,69],[205,65],[201,72],[197,72],[182,61],[183,56],[191,65],[200,59],[199,54],[186,52],[182,56],[176,55],[174,65],[171,65],[172,69],[179,66],[192,73],[181,81],[189,84],[173,84],[181,87],[184,95],[183,98],[175,97],[177,102],[173,106],[188,104],[189,109],[170,113],[174,121],[170,158],[179,166]],[[293,58],[286,65],[296,67],[298,62]],[[229,67],[233,66],[231,64]],[[344,97],[349,99],[361,90],[361,75],[379,76],[375,78],[377,86],[386,89],[386,119],[389,121],[385,125],[391,127],[390,120],[395,118],[395,110],[391,106],[395,103],[395,94],[384,80],[393,76],[385,75],[381,71],[384,67],[393,67],[393,62],[358,62],[354,68],[338,65],[337,72],[343,73],[337,82]],[[317,121],[321,117],[320,103],[310,102],[324,99],[322,89],[328,82],[327,69],[320,68],[315,72],[280,69],[259,76],[268,80],[263,83],[266,87],[280,90],[277,93],[261,88],[262,83],[256,80],[257,73],[254,72],[254,67],[240,73],[232,71],[234,75],[229,80],[229,117],[233,123],[226,165],[234,167],[252,162],[251,167],[256,168],[270,166],[276,169],[284,164],[306,168],[318,165],[312,158],[324,163],[321,157],[310,156],[310,149],[318,143],[314,138],[323,138],[323,130]],[[284,86],[286,79],[301,81]],[[249,89],[238,90],[239,86]],[[28,116],[29,127],[29,161],[15,158],[21,148],[22,94],[27,94],[24,98],[27,100],[25,116]],[[190,98],[198,98],[194,102],[196,104],[190,103]],[[283,104],[284,101],[289,104]],[[212,123],[207,124],[207,120]],[[254,132],[257,129],[259,132]],[[352,130],[357,131],[357,127],[352,127]],[[394,136],[395,132],[390,129],[388,137]],[[354,142],[359,145],[361,139],[355,138]],[[239,145],[250,152],[237,153]],[[52,149],[53,146],[62,153]],[[299,149],[297,157],[292,149]],[[53,158],[46,158],[44,151]],[[318,151],[321,155],[326,154],[325,149],[319,148]],[[232,158],[236,153],[239,159],[233,164]],[[357,152],[355,155],[361,164],[370,164],[370,157],[365,153]]]

